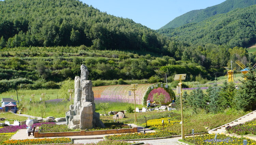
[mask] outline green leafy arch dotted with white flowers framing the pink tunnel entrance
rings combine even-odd
[[[150,92],[152,90],[157,89],[157,88],[163,88],[166,92],[169,93],[171,100],[175,99],[175,93],[173,92],[171,87],[169,87],[167,84],[156,83],[156,84],[153,84],[153,85],[149,86],[147,88],[147,90],[144,92],[144,95],[143,95],[143,98],[142,98],[142,105],[146,105],[147,104],[148,95],[150,94]]]

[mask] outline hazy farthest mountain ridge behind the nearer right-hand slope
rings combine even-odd
[[[214,15],[228,13],[234,9],[245,8],[254,4],[256,4],[256,0],[226,0],[221,4],[217,4],[206,9],[187,12],[176,17],[160,29],[177,28],[188,23],[198,23]]]

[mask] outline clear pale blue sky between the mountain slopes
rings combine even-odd
[[[177,16],[205,9],[225,0],[82,0],[108,14],[130,18],[151,29],[159,29]]]

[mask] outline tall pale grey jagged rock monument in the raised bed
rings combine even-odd
[[[71,129],[91,129],[105,125],[100,120],[100,114],[95,112],[93,84],[88,80],[88,69],[81,65],[81,77],[75,77],[74,105],[66,112],[67,125]]]

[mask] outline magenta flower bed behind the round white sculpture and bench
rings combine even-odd
[[[55,124],[54,122],[42,122],[42,123],[36,123],[36,124],[33,124],[32,127],[34,126],[41,126],[42,124]],[[11,133],[11,132],[16,132],[18,131],[19,129],[26,129],[27,128],[27,125],[21,125],[21,126],[6,126],[6,127],[3,127],[3,128],[0,128],[0,133]]]

